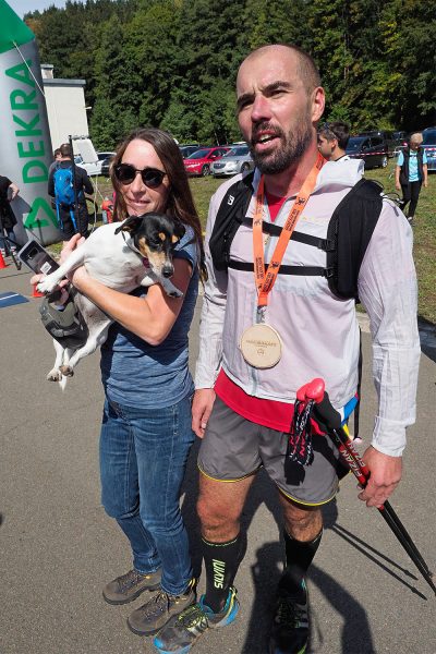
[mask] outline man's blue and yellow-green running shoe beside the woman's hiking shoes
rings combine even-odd
[[[186,654],[208,629],[226,627],[233,622],[239,611],[237,589],[230,588],[220,613],[214,613],[206,606],[204,597],[202,595],[198,604],[189,606],[179,616],[171,618],[159,631],[153,643],[160,654]]]

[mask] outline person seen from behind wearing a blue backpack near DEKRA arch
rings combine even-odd
[[[60,152],[58,166],[53,167],[48,177],[48,194],[55,197],[59,229],[63,240],[69,241],[76,233],[86,238],[89,216],[84,194],[92,195],[94,186],[86,170],[80,166],[74,166],[73,186],[73,153],[70,144],[63,143]]]

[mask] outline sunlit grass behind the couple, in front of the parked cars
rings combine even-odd
[[[387,168],[368,170],[367,177],[382,182],[386,193],[396,193],[393,168],[395,160],[390,159]],[[213,177],[190,180],[203,227],[206,225],[210,196],[223,181]],[[97,183],[102,196],[111,194],[108,179],[100,177]],[[101,198],[99,198],[98,205],[101,205]],[[99,216],[100,218],[101,216]],[[419,314],[421,318],[436,324],[436,174],[428,175],[428,189],[421,191],[413,233],[413,252],[419,280]]]

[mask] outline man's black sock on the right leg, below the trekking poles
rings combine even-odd
[[[279,581],[279,590],[286,590],[292,594],[301,593],[301,582],[306,574],[310,565],[318,549],[323,530],[313,541],[295,541],[283,530],[286,566]]]

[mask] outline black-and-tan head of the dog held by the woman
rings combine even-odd
[[[172,251],[185,232],[180,220],[150,211],[143,216],[129,216],[116,230],[116,234],[120,231],[130,233],[135,247],[148,259],[155,275],[173,275]]]

